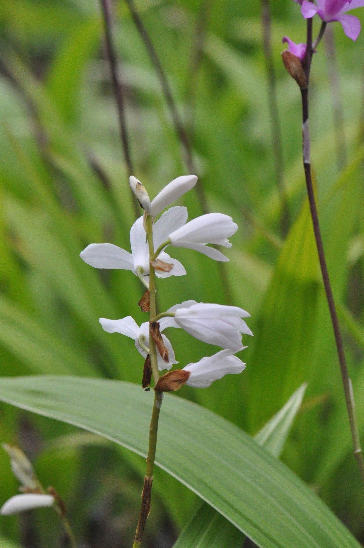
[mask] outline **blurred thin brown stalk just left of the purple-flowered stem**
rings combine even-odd
[[[284,182],[284,166],[280,119],[277,105],[276,75],[274,70],[271,46],[271,13],[269,0],[261,0],[261,26],[263,28],[263,48],[266,74],[268,78],[268,101],[272,134],[273,156],[276,172],[277,189],[281,205],[281,236],[285,238],[289,230],[289,202]]]

